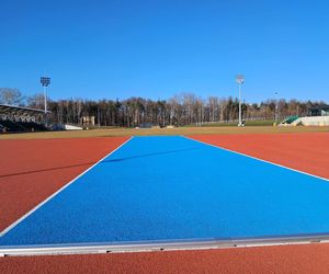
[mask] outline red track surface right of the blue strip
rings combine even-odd
[[[189,137],[329,179],[329,133],[194,135]]]

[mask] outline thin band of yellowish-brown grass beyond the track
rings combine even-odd
[[[48,132],[0,135],[0,139],[44,139],[44,138],[87,138],[87,137],[117,137],[117,136],[149,136],[149,135],[198,135],[198,134],[277,134],[277,133],[309,133],[329,132],[329,127],[177,127],[177,128],[106,128],[76,132]]]

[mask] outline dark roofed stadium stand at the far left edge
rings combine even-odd
[[[44,116],[43,110],[0,104],[0,133],[45,132]]]

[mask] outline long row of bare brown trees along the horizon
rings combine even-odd
[[[43,94],[24,98],[16,89],[0,88],[0,103],[44,109]],[[325,102],[269,99],[261,103],[242,103],[242,117],[249,119],[279,119],[290,115],[308,115],[309,107]],[[209,96],[203,99],[194,93],[181,93],[169,100],[129,98],[126,100],[48,99],[48,122],[82,124],[82,117],[94,117],[101,126],[133,127],[141,123],[160,126],[235,122],[239,102],[236,98]]]

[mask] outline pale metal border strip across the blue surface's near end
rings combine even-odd
[[[263,238],[204,239],[177,241],[104,242],[84,244],[43,244],[0,247],[0,256],[101,254],[150,251],[183,251],[205,249],[252,248],[268,246],[329,242],[329,233],[296,235]]]

